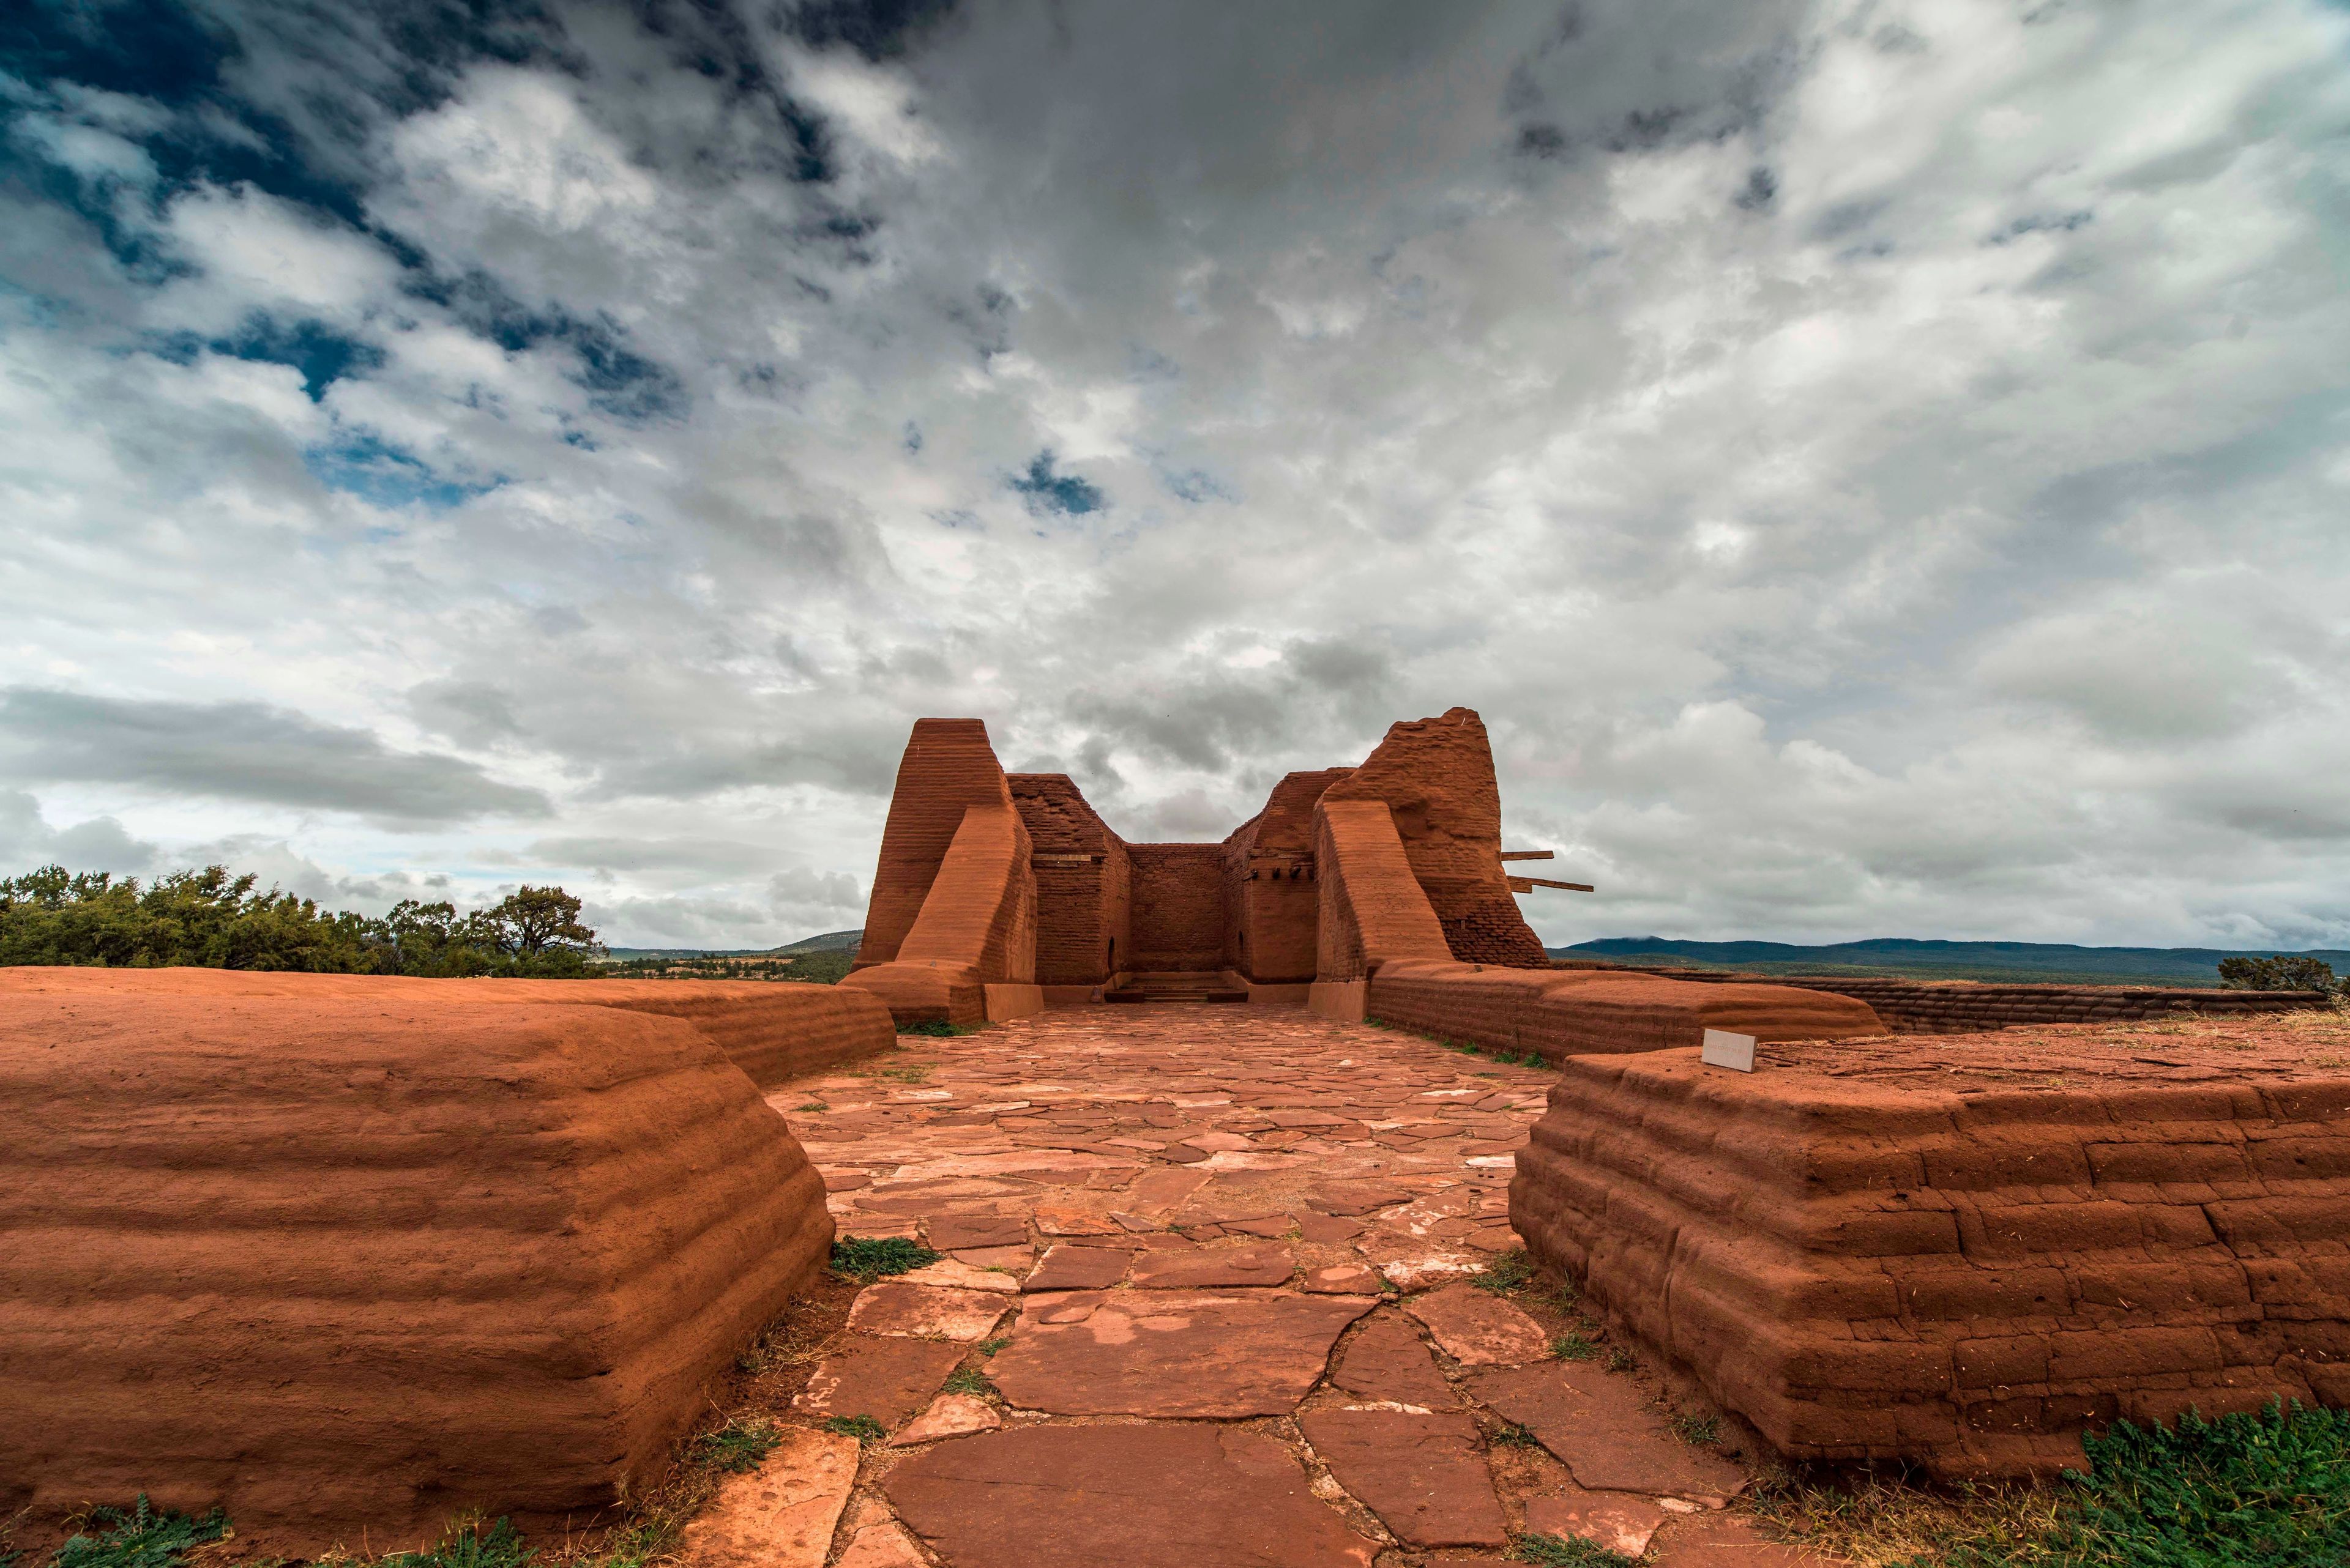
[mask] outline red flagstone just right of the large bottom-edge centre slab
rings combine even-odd
[[[1506,1547],[1476,1422],[1462,1413],[1311,1410],[1297,1429],[1337,1483],[1412,1547]]]

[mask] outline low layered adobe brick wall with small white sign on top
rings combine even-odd
[[[2044,1474],[2117,1418],[2350,1403],[2343,1041],[2181,1027],[1579,1056],[1511,1225],[1793,1460]]]

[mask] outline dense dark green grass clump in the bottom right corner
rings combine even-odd
[[[2084,1436],[2035,1542],[1969,1540],[1932,1568],[2319,1568],[2350,1563],[2350,1410],[2289,1410]],[[1927,1568],[1929,1559],[1913,1559]]]

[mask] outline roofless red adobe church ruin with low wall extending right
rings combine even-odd
[[[1694,1046],[1706,1027],[1882,1032],[1868,1004],[1824,992],[1551,969],[1511,882],[1469,708],[1394,724],[1361,766],[1285,776],[1220,844],[1128,844],[1069,776],[1006,773],[978,719],[919,719],[846,985],[900,1025],[1020,1018],[1126,983],[1311,999],[1551,1060]]]

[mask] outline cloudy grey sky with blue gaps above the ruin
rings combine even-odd
[[[1586,936],[2350,943],[2350,9],[38,0],[0,875],[862,922],[1492,726]]]

